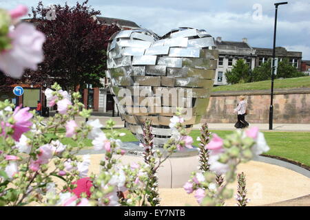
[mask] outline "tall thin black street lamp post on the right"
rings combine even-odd
[[[273,51],[272,51],[272,70],[271,70],[271,102],[270,102],[270,109],[269,109],[269,130],[272,130],[272,120],[273,120],[273,80],[275,74],[275,59],[276,59],[276,31],[277,31],[277,16],[278,16],[278,5],[285,5],[286,2],[279,2],[275,3],[276,12],[274,18],[274,32],[273,32]]]

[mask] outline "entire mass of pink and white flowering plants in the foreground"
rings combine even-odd
[[[10,12],[0,10],[0,69],[7,76],[19,78],[25,68],[37,69],[43,60],[45,36],[31,24],[19,22],[27,8],[19,6]],[[182,110],[178,109],[169,124],[172,138],[163,151],[153,148],[152,122],[143,126],[144,163],[123,165],[119,157],[125,154],[121,140],[125,135],[113,129],[107,121],[106,129],[99,120],[77,124],[75,115],[89,118],[91,110],[79,102],[79,93],[69,94],[55,83],[45,90],[48,107],[57,105],[54,117],[43,118],[30,108],[8,100],[0,102],[0,206],[158,206],[158,168],[174,151],[193,148],[187,135]],[[81,110],[80,110],[81,109]],[[61,132],[65,130],[65,133]],[[210,140],[207,124],[200,130],[200,170],[192,173],[185,183],[187,193],[194,193],[203,206],[223,206],[233,191],[227,184],[234,181],[236,167],[242,162],[269,150],[264,135],[256,127],[237,131],[225,140],[216,134]],[[72,138],[76,146],[63,144],[64,137]],[[76,156],[83,148],[83,140],[92,140],[94,149],[104,151],[99,174],[91,174],[89,193],[73,193],[78,179],[87,177],[90,155]],[[225,180],[223,176],[225,175]],[[61,180],[59,184],[55,178]],[[238,201],[245,205],[245,179],[238,176]]]

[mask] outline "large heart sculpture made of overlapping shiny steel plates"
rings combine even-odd
[[[154,146],[172,136],[170,118],[183,107],[186,129],[200,122],[214,84],[218,51],[205,30],[178,28],[162,37],[150,30],[115,33],[107,47],[107,77],[125,125],[143,141],[152,120]]]

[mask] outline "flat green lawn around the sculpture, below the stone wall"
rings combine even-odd
[[[104,132],[109,132],[110,130],[103,130]],[[121,137],[123,142],[134,142],[137,141],[136,137],[132,135],[127,129],[119,129],[120,132],[126,133],[125,136]],[[225,137],[232,131],[211,131],[219,135],[220,137]],[[270,151],[265,153],[266,155],[273,155],[278,157],[284,157],[291,159],[296,162],[300,162],[304,165],[310,166],[310,133],[309,132],[274,132],[266,131],[263,132],[267,140],[267,144],[270,146]],[[198,130],[193,130],[190,135],[194,139],[194,145],[198,146],[198,141],[196,137],[199,136]],[[65,137],[61,142],[63,144],[72,144],[74,146],[76,143],[68,137]],[[91,140],[84,140],[85,148],[92,146]]]

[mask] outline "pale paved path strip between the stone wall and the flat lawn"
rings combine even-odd
[[[102,124],[105,124],[110,117],[107,116],[91,116],[90,120],[98,118]],[[124,122],[119,117],[112,118],[116,122],[116,127],[124,126]],[[81,121],[83,118],[76,117],[76,121]],[[194,129],[199,129],[201,124],[194,125]],[[269,131],[269,124],[250,124],[250,126],[258,126],[261,131]],[[209,129],[211,130],[235,130],[234,124],[225,123],[210,123]],[[273,124],[273,131],[309,131],[310,124]]]

